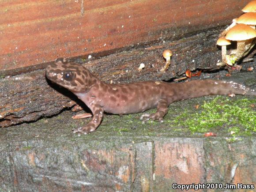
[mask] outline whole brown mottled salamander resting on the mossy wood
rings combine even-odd
[[[153,114],[143,114],[141,120],[163,121],[170,103],[205,95],[256,95],[255,90],[238,83],[220,80],[193,80],[186,83],[147,81],[128,84],[108,84],[100,81],[80,64],[63,58],[46,68],[46,77],[72,91],[93,113],[90,123],[75,132],[93,132],[101,123],[103,112],[128,114],[157,108]]]

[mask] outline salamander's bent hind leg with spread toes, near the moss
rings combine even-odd
[[[142,123],[145,123],[148,120],[158,120],[159,122],[163,122],[163,117],[168,112],[168,102],[166,100],[160,100],[157,105],[157,111],[156,113],[152,114],[143,114],[140,116],[140,120],[142,120]]]

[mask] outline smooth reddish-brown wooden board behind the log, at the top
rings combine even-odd
[[[0,71],[11,75],[6,70],[58,57],[86,58],[91,53],[225,25],[241,15],[247,3],[248,0],[0,0]]]

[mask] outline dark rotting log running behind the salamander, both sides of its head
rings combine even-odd
[[[161,42],[145,48],[126,50],[101,58],[85,60],[85,67],[98,78],[109,82],[169,80],[184,74],[187,69],[214,70],[221,58],[215,42],[220,29],[212,29],[172,42]],[[162,52],[171,49],[173,56],[167,72]],[[82,62],[77,59],[76,61]],[[139,71],[139,65],[145,68]],[[49,86],[50,85],[50,86]],[[0,79],[0,126],[38,120],[60,113],[79,100],[68,90],[45,79],[44,70]]]

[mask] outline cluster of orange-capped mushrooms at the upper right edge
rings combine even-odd
[[[233,23],[219,36],[216,44],[222,47],[222,63],[218,65],[233,65],[246,56],[256,43],[256,0],[249,2],[242,11],[245,13],[233,19]],[[226,46],[231,41],[237,41],[237,49],[227,55]]]

